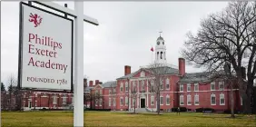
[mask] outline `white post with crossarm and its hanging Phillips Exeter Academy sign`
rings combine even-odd
[[[84,126],[84,21],[94,25],[98,21],[84,15],[84,2],[75,1],[74,11],[53,2],[33,3],[65,16],[21,2],[18,85],[71,90],[74,83],[74,126]],[[73,16],[74,21],[66,15]]]

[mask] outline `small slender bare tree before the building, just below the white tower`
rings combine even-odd
[[[169,68],[168,64],[157,62],[143,67],[143,69],[148,70],[152,75],[151,80],[148,81],[148,87],[152,93],[156,94],[157,114],[160,114],[160,93],[163,89],[163,81],[166,79],[165,73],[167,73]]]

